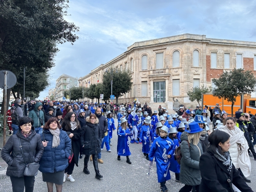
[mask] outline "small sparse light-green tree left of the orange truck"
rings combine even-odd
[[[189,96],[189,100],[190,101],[197,101],[198,102],[198,105],[200,105],[200,101],[202,99],[202,94],[205,94],[205,93],[210,93],[212,90],[212,87],[204,87],[204,85],[202,85],[202,87],[193,87],[192,89],[190,89],[187,94]]]

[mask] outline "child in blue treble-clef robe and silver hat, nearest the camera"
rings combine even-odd
[[[157,137],[154,140],[148,155],[150,161],[153,161],[153,158],[155,157],[157,164],[157,179],[158,183],[160,183],[161,192],[168,191],[165,184],[166,180],[171,179],[169,166],[171,158],[174,158],[173,154],[175,151],[173,141],[167,137],[168,131],[169,128],[166,126],[163,126],[160,129],[160,137]]]

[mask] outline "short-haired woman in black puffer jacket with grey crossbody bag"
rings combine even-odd
[[[17,134],[12,135],[4,145],[1,156],[8,164],[6,175],[10,176],[13,192],[33,192],[35,176],[24,176],[25,162],[21,150],[23,150],[26,163],[38,163],[44,151],[39,134],[32,126],[34,121],[29,117],[22,117],[19,121]],[[22,146],[22,148],[20,148]]]

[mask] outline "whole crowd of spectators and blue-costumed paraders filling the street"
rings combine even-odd
[[[29,163],[39,163],[49,192],[54,183],[56,191],[61,192],[66,180],[75,182],[73,169],[83,155],[84,174],[90,174],[90,159],[95,178],[101,179],[101,151],[104,145],[112,151],[115,130],[117,160],[126,156],[126,163],[131,164],[130,144],[142,144],[142,153],[150,162],[148,172],[156,162],[160,192],[168,191],[170,172],[175,173],[176,182],[184,184],[180,192],[253,191],[246,182],[250,182],[247,177],[251,174],[249,157],[256,160],[256,117],[241,110],[233,118],[218,104],[213,109],[197,106],[195,110],[183,105],[177,113],[169,114],[161,105],[152,111],[147,103],[142,107],[136,100],[117,105],[52,101],[27,104],[26,100],[15,99],[7,114],[11,137],[1,156],[8,164],[6,175],[14,192],[24,187],[27,192],[33,191],[35,176],[23,175]],[[19,146],[25,149],[26,161]]]

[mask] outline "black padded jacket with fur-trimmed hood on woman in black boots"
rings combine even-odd
[[[96,118],[94,124],[90,122],[90,117],[86,117],[86,124],[83,127],[83,154],[98,154],[101,148],[101,130],[99,128],[99,119]]]

